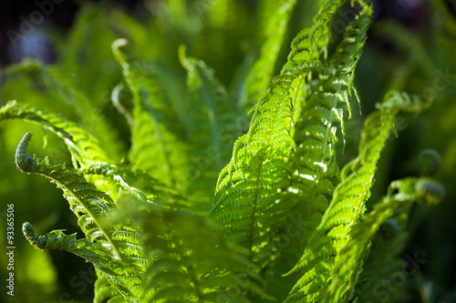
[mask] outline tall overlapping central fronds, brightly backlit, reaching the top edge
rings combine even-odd
[[[324,2],[315,25],[296,36],[281,75],[254,106],[249,132],[237,140],[232,161],[219,177],[212,215],[228,237],[248,247],[271,235],[267,222],[274,220],[269,213],[283,216],[301,202],[315,228],[319,217],[310,217],[321,217],[326,209],[324,194],[333,188],[326,177],[337,172],[337,123],[342,131],[344,126],[343,110],[337,106],[347,105],[350,111],[353,71],[372,14],[369,5],[363,6],[347,25],[347,41],[328,54],[330,21],[344,3]],[[290,202],[289,192],[295,190],[308,197],[292,197]],[[262,231],[257,234],[256,228]]]

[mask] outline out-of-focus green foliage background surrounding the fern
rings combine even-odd
[[[456,17],[443,0],[432,0],[427,5],[429,17],[419,29],[404,28],[393,21],[375,22],[357,69],[356,86],[363,116],[372,112],[374,104],[390,89],[423,97],[431,94],[434,99],[430,109],[420,116],[397,118],[399,139],[390,142],[382,155],[371,201],[379,200],[390,181],[419,176],[420,153],[429,148],[441,156],[436,178],[447,190],[439,206],[412,211],[407,228],[409,237],[400,237],[407,241],[401,245],[404,252],[418,253],[426,263],[405,284],[393,286],[395,291],[384,292],[379,297],[386,298],[384,302],[456,301],[456,278],[450,269],[456,268],[452,258],[456,255],[456,227],[452,224],[456,214]],[[255,9],[256,6],[262,7]],[[312,24],[314,6],[313,1],[299,1],[296,5],[283,33],[284,43],[275,46],[280,49],[271,67],[273,75],[285,63],[292,37]],[[111,102],[112,90],[122,80],[111,44],[124,37],[130,40],[134,56],[156,66],[161,81],[167,84],[164,89],[171,102],[179,103],[179,119],[192,128],[190,96],[180,88],[185,86],[186,71],[180,65],[178,49],[186,45],[187,54],[202,58],[211,66],[227,87],[227,96],[240,105],[240,117],[247,123],[242,124],[241,119],[238,131],[244,133],[249,118],[246,112],[256,100],[245,96],[242,81],[233,79],[244,80],[248,76],[261,56],[267,36],[275,31],[273,25],[260,22],[267,19],[264,15],[276,14],[274,2],[169,0],[150,2],[149,8],[147,14],[132,16],[108,5],[82,5],[69,33],[47,31],[57,49],[55,64],[45,66],[26,59],[5,69],[0,106],[15,99],[59,113],[97,136],[114,162],[128,161],[124,157],[131,144],[128,121]],[[362,120],[355,113],[347,122],[347,145],[340,158],[341,167],[357,156]],[[53,162],[71,162],[67,147],[57,136],[46,132],[38,135],[43,134],[42,127],[21,121],[0,125],[0,155],[4,159],[0,163],[0,201],[4,207],[0,213],[3,222],[5,204],[15,203],[16,302],[35,302],[36,298],[40,302],[88,302],[93,298],[94,282],[90,266],[70,254],[37,251],[19,232],[25,220],[33,220],[40,230],[78,231],[76,218],[54,185],[45,178],[26,176],[15,169],[16,145],[26,131],[36,134],[30,149],[37,155],[48,155]],[[3,223],[0,234],[5,235]],[[4,240],[2,236],[2,247]],[[2,277],[5,264],[2,254]],[[399,270],[400,266],[401,263]]]

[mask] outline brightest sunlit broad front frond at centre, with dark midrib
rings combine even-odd
[[[288,85],[289,78],[279,76],[255,107],[249,132],[234,144],[232,160],[219,176],[214,197],[211,216],[227,237],[251,251],[267,241],[268,224],[285,207],[275,202],[280,196],[277,188],[289,184],[285,158],[294,147],[289,135]]]

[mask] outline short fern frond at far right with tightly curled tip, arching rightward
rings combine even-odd
[[[394,214],[401,204],[424,202],[436,204],[444,195],[444,188],[427,178],[407,178],[394,181],[389,187],[389,195],[375,205],[354,226],[345,246],[336,257],[331,272],[331,285],[327,288],[322,302],[348,302],[352,290],[358,282],[362,260],[380,225]]]

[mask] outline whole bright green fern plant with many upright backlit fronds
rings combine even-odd
[[[162,14],[181,16],[177,31],[196,22],[183,1],[161,5]],[[206,13],[220,27],[204,35],[227,35],[223,22],[229,16],[217,14],[235,5],[215,1]],[[409,177],[392,182],[368,209],[396,117],[419,113],[430,102],[390,91],[365,119],[358,156],[342,166],[338,145],[345,145],[345,123],[354,103],[360,104],[355,70],[372,3],[321,1],[314,25],[296,35],[273,76],[295,5],[283,0],[259,6],[259,15],[270,17],[271,33],[244,63],[249,72],[239,73],[230,88],[202,58],[187,56],[183,45],[173,49],[175,57],[154,50],[156,56],[143,59],[134,49],[138,30],[130,33],[131,42],[129,36],[113,41],[122,79],[111,97],[130,126],[130,152],[121,162],[62,116],[16,101],[1,107],[0,120],[42,126],[67,146],[72,167],[29,156],[27,132],[16,149],[16,166],[62,189],[84,237],[61,229],[38,236],[28,222],[23,232],[38,249],[66,250],[92,263],[98,274],[94,302],[363,301],[369,283],[379,278],[375,263],[382,251],[372,246],[378,230],[392,225],[398,234],[414,202],[436,204],[444,195],[429,176]],[[271,7],[279,14],[268,14]],[[335,32],[339,13],[347,10],[353,16]],[[154,33],[161,39],[166,34]],[[203,47],[195,41],[187,46],[191,52]],[[32,66],[55,79],[47,86],[87,100],[49,66]],[[245,107],[252,104],[242,135],[237,123],[247,119]],[[390,223],[398,209],[405,217]]]

